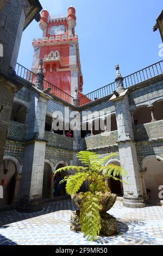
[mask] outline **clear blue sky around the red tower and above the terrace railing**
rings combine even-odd
[[[68,0],[40,0],[50,15],[66,14]],[[76,8],[83,93],[115,80],[115,65],[127,76],[158,62],[159,31],[153,32],[162,11],[162,0],[69,0]],[[18,63],[31,69],[33,38],[42,37],[33,21],[23,32]]]

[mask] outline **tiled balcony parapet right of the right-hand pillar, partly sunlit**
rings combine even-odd
[[[163,120],[134,126],[135,141],[145,141],[146,139],[161,138],[162,136]]]

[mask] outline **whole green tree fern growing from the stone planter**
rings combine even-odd
[[[66,181],[66,192],[70,195],[76,194],[85,180],[89,181],[90,191],[82,196],[82,207],[80,210],[82,231],[89,240],[95,240],[101,230],[99,211],[102,209],[102,205],[99,202],[99,192],[110,192],[110,188],[105,183],[105,178],[124,182],[118,178],[119,176],[126,175],[126,171],[122,167],[115,164],[104,165],[108,159],[115,156],[117,156],[117,153],[112,153],[101,159],[97,153],[80,151],[77,157],[86,167],[66,166],[55,171],[55,173],[66,170],[76,172],[74,175],[66,176],[61,181]]]

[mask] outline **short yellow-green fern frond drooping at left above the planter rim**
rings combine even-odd
[[[82,186],[83,182],[87,179],[88,175],[88,173],[80,172],[69,176],[66,183],[67,194],[76,194]]]

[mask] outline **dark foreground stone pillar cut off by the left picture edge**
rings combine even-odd
[[[27,17],[36,15],[28,0],[0,1],[0,172],[11,117],[14,94],[18,87],[15,66]],[[34,3],[35,5],[35,3]],[[39,13],[39,9],[38,9]]]

